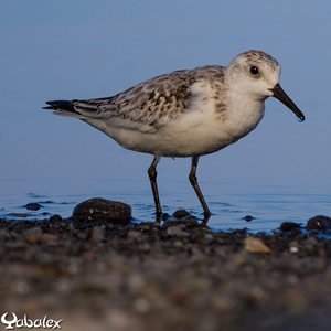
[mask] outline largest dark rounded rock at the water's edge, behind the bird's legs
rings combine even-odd
[[[131,207],[122,202],[94,197],[77,204],[73,217],[75,221],[94,220],[127,224],[131,217]]]

